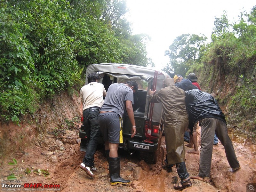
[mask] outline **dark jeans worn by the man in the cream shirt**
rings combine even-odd
[[[94,165],[94,154],[97,149],[97,144],[100,136],[99,126],[99,110],[88,108],[83,111],[85,132],[87,134],[87,149],[83,159],[85,166],[91,167]]]

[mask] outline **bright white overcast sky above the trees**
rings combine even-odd
[[[250,13],[255,0],[126,0],[130,10],[126,18],[132,24],[133,34],[145,33],[151,36],[147,51],[161,69],[169,63],[164,52],[173,40],[182,34],[203,34],[209,39],[215,17],[220,18],[225,10],[228,20],[238,20],[240,12]]]

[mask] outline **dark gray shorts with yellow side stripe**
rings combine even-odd
[[[100,113],[99,124],[104,141],[123,143],[123,118],[117,113]]]

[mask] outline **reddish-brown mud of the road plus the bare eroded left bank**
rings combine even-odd
[[[59,135],[51,134],[55,126],[58,128],[63,126],[61,122],[63,122],[65,118],[71,119],[74,116],[81,115],[79,99],[72,100],[74,105],[71,105],[70,100],[63,95],[60,95],[60,98],[54,101],[55,106],[51,106],[51,104],[47,106],[48,104],[45,104],[45,107],[41,108],[38,112],[38,117],[41,117],[40,126],[39,118],[37,124],[31,122],[23,123],[20,127],[11,123],[1,125],[0,138],[4,141],[1,142],[1,144],[4,145],[1,146],[1,148],[5,148],[5,154],[7,154],[5,158],[3,158],[0,166],[1,183],[42,183],[42,185],[60,185],[60,187],[48,189],[30,188],[34,190],[40,189],[41,191],[176,191],[173,189],[174,183],[179,179],[176,168],[173,167],[172,172],[169,173],[162,169],[166,154],[164,137],[161,142],[159,160],[156,164],[147,164],[144,161],[140,161],[136,152],[130,155],[127,151],[122,149],[118,151],[121,156],[121,176],[131,180],[131,184],[123,186],[111,186],[109,184],[108,163],[104,155],[104,149],[102,148],[95,153],[95,165],[97,168],[97,170],[94,171],[95,178],[89,177],[79,168],[79,164],[81,164],[84,157],[84,152],[81,152],[79,147],[79,124],[71,131],[66,130]],[[70,108],[72,108],[72,110],[70,110]],[[50,114],[52,111],[54,111],[54,113]],[[77,111],[79,113],[78,115]],[[60,117],[60,114],[65,116],[65,118]],[[38,133],[40,129],[41,131],[44,129],[44,134]],[[14,132],[14,130],[16,131]],[[37,135],[37,137],[35,135]],[[23,138],[21,138],[21,136]],[[26,137],[26,140],[24,137]],[[253,142],[249,139],[243,138],[242,136],[230,134],[230,138],[233,141],[241,169],[232,172],[226,159],[224,147],[219,142],[217,146],[213,146],[211,181],[206,183],[200,180],[191,180],[193,182],[192,187],[186,188],[183,191],[240,192],[246,191],[248,184],[256,183],[255,145],[253,145]],[[197,129],[197,142],[200,150],[200,127]],[[187,143],[185,142],[185,144]],[[188,154],[187,151],[191,150],[191,148],[185,147],[185,149],[187,170],[190,175],[195,176],[198,174],[200,155]],[[13,158],[17,160],[17,165],[8,164],[12,162]],[[49,174],[45,174],[44,176],[44,173],[47,172],[42,170],[47,170]],[[29,173],[29,171],[31,172]],[[11,173],[17,178],[13,180],[13,182],[7,180],[7,176]],[[4,188],[3,185],[0,186],[1,191],[7,191],[7,189],[10,191],[11,188]],[[20,189],[24,191],[24,189],[28,188]]]

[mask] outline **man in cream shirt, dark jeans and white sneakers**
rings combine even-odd
[[[83,103],[83,125],[85,126],[87,140],[87,149],[83,159],[83,163],[79,165],[87,175],[94,177],[92,171],[95,171],[94,154],[97,148],[100,126],[99,126],[99,111],[103,105],[103,97],[107,92],[104,85],[98,83],[98,75],[91,73],[88,75],[88,84],[84,85],[80,90],[80,97]]]

